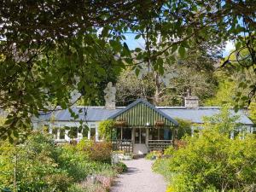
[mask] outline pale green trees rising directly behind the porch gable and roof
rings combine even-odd
[[[132,67],[126,67],[117,79],[117,102],[126,106],[137,98],[147,99],[157,106],[182,106],[183,96],[192,90],[201,104],[214,96],[218,79],[214,74],[219,65],[221,44],[214,41],[194,43],[186,55],[177,52],[165,55],[162,73],[153,70],[147,62],[141,63],[137,76]]]

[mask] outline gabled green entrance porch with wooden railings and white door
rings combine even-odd
[[[113,150],[147,154],[172,145],[173,127],[177,121],[142,99],[114,114],[116,127],[112,131]]]

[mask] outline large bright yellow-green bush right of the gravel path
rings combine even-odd
[[[183,138],[183,146],[168,148],[168,158],[153,167],[169,182],[167,191],[255,191],[256,137],[243,132],[230,139],[238,126],[224,109],[194,137]]]

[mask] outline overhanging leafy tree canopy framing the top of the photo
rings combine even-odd
[[[32,114],[56,106],[71,108],[80,97],[84,103],[102,104],[98,90],[122,68],[130,66],[138,74],[145,63],[153,73],[163,75],[164,65],[172,67],[176,55],[186,59],[189,50],[203,43],[211,49],[236,41],[234,56],[226,58],[223,66],[232,67],[230,61],[237,61],[243,73],[255,75],[254,1],[3,0],[0,9],[0,105],[9,110],[9,120],[0,128],[3,138],[30,131]],[[129,49],[127,33],[143,41],[144,48]],[[190,61],[196,58],[206,59],[199,55]],[[196,72],[190,66],[181,72]],[[198,77],[207,79],[210,74],[198,73]],[[238,96],[242,101],[250,102],[255,95],[253,77],[245,83],[249,94]],[[211,90],[214,79],[208,80]],[[180,94],[183,90],[178,87],[175,91]],[[156,88],[158,103],[160,83]],[[211,91],[203,99],[209,96]]]

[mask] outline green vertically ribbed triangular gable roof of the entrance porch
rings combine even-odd
[[[117,121],[125,121],[128,126],[154,126],[156,122],[164,122],[164,126],[178,125],[175,119],[172,119],[166,113],[161,112],[149,102],[138,99],[132,102],[126,108],[113,114],[108,119],[115,119]]]

